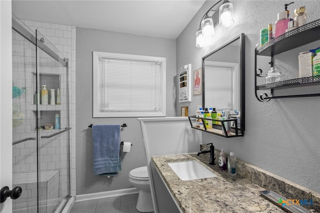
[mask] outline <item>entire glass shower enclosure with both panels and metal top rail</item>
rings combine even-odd
[[[12,15],[13,212],[60,212],[70,195],[67,58]]]

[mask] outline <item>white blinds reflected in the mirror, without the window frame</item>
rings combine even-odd
[[[205,65],[205,107],[234,109],[234,71],[232,67]]]

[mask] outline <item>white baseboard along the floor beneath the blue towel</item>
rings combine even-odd
[[[133,188],[124,188],[124,189],[102,191],[102,192],[89,193],[89,194],[79,194],[75,196],[75,202],[80,202],[80,201],[90,200],[90,199],[99,199],[99,198],[105,198],[105,197],[111,197],[111,196],[135,194],[135,193],[139,193],[139,190],[133,187]]]

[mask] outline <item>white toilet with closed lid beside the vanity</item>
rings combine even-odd
[[[151,212],[153,210],[149,176],[146,166],[134,168],[129,172],[129,182],[140,190],[136,209],[140,212]]]

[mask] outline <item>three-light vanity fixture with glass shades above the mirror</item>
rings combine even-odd
[[[222,4],[214,8],[222,0],[216,2],[201,18],[199,28],[195,33],[195,46],[204,47],[211,43],[214,36],[214,26],[219,24],[222,27],[228,27],[234,23],[233,5],[228,0],[223,0]],[[212,12],[213,11],[213,12]]]

